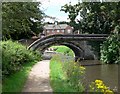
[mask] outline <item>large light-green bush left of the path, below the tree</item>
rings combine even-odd
[[[25,46],[9,41],[1,41],[2,44],[2,75],[10,75],[22,68],[22,64],[39,60],[40,54],[27,50]]]

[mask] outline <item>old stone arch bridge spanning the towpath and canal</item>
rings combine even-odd
[[[104,41],[107,37],[106,34],[51,35],[37,39],[29,45],[28,49],[39,49],[44,52],[50,46],[65,45],[73,50],[76,59],[94,59],[91,46],[87,41]]]

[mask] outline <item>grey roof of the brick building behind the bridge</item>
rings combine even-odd
[[[55,25],[55,24],[47,24],[44,26],[45,29],[65,29],[67,26],[67,24],[58,24],[58,25]]]

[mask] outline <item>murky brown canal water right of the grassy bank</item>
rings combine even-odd
[[[99,79],[110,89],[118,91],[118,64],[101,64],[99,60],[83,60],[80,64],[86,68],[84,78],[86,87]]]

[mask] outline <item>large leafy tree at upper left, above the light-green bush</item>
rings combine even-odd
[[[43,18],[43,12],[39,7],[38,2],[3,2],[2,38],[16,40],[30,37],[33,35],[32,32],[38,33]]]

